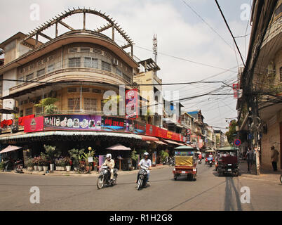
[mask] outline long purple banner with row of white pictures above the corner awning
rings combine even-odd
[[[50,115],[44,117],[44,130],[101,130],[100,115]]]

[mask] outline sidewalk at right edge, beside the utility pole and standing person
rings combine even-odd
[[[240,176],[248,177],[251,179],[260,179],[264,181],[274,181],[279,182],[280,176],[282,174],[282,169],[278,169],[274,172],[272,169],[260,168],[260,175],[256,175],[255,164],[252,165],[252,169],[248,172],[248,162],[246,160],[241,160],[239,165]]]

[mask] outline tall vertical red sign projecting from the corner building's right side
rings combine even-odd
[[[132,89],[126,91],[126,119],[137,118],[139,110],[138,90]]]

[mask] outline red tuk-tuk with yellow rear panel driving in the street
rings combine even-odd
[[[175,181],[177,177],[181,175],[187,175],[187,179],[196,181],[196,152],[196,148],[189,146],[175,148],[175,168],[173,169]]]

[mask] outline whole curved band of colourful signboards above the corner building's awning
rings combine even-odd
[[[25,132],[51,130],[86,130],[129,132],[155,136],[161,139],[186,142],[187,138],[173,131],[168,131],[152,124],[100,115],[48,115],[25,120]]]

